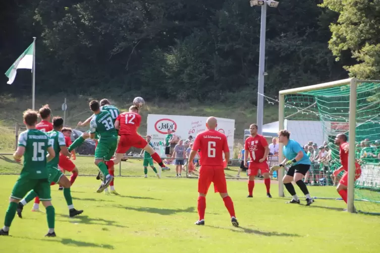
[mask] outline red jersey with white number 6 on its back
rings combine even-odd
[[[223,168],[223,152],[230,152],[227,137],[215,130],[197,135],[192,150],[199,150],[202,166]]]

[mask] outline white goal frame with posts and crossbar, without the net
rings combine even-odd
[[[380,82],[377,80],[358,80],[356,78],[348,78],[338,80],[334,82],[310,85],[300,88],[282,90],[279,92],[279,131],[284,129],[285,121],[285,96],[289,94],[297,94],[300,92],[314,91],[326,88],[339,87],[344,85],[350,85],[350,101],[349,101],[349,137],[350,140],[356,139],[356,104],[357,104],[357,85],[365,82]],[[355,141],[349,141],[349,150],[355,150]],[[279,161],[283,158],[283,145],[279,146]],[[348,155],[348,193],[347,193],[347,211],[350,213],[355,212],[354,208],[354,191],[355,191],[355,152],[349,152]],[[279,178],[279,197],[285,197],[284,195],[284,183],[282,178],[284,177],[285,169],[281,168],[278,171]]]

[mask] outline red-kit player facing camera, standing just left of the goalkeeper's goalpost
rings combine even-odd
[[[270,178],[269,178],[269,166],[267,157],[269,154],[268,142],[265,137],[257,134],[257,124],[251,124],[249,127],[251,136],[245,140],[244,145],[244,166],[247,168],[247,158],[248,152],[251,157],[251,161],[248,167],[248,196],[247,198],[253,198],[253,188],[255,186],[255,176],[257,175],[258,170],[261,171],[262,176],[264,177],[264,183],[266,186],[266,196],[272,198],[269,193],[270,190]]]

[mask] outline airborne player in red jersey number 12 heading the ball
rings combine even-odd
[[[162,170],[169,169],[162,163],[159,155],[154,149],[142,138],[137,129],[140,127],[141,116],[137,106],[132,105],[129,107],[129,112],[121,113],[115,120],[115,129],[119,130],[120,141],[118,143],[118,149],[116,150],[115,164],[118,164],[123,158],[124,154],[131,148],[139,148],[148,152],[154,161],[162,168]]]

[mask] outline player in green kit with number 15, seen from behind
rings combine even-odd
[[[49,174],[46,162],[53,159],[56,153],[49,144],[48,137],[43,132],[35,129],[37,112],[27,110],[24,112],[23,118],[27,130],[20,134],[18,148],[13,157],[16,162],[21,162],[21,157],[24,156],[24,163],[20,176],[13,187],[5,215],[4,227],[0,230],[0,235],[8,235],[9,228],[16,215],[17,204],[33,189],[46,208],[49,231],[45,236],[55,237],[55,210],[51,205]]]

